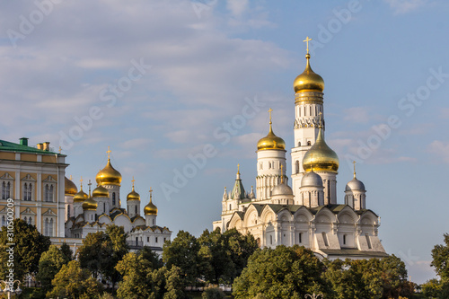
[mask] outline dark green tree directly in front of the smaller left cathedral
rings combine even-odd
[[[113,286],[120,280],[116,265],[129,251],[123,227],[108,225],[106,233],[89,233],[78,248],[81,267],[89,269],[93,277],[105,277]]]

